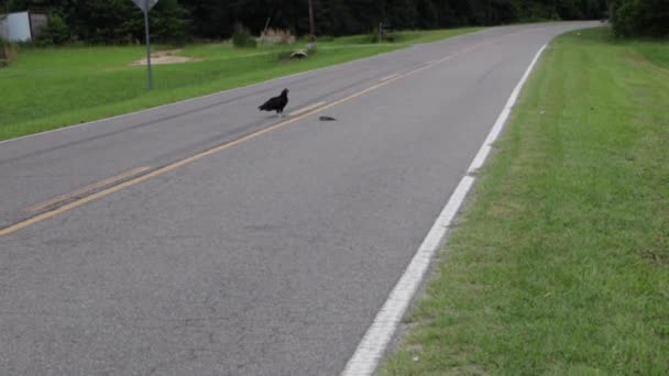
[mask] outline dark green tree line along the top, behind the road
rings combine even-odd
[[[669,0],[311,0],[316,35],[392,29],[495,25],[539,20],[592,20],[613,12],[621,35],[667,34]],[[131,0],[0,0],[0,10],[47,12],[47,43],[132,43],[143,18]],[[161,0],[151,12],[160,42],[230,37],[235,25],[259,34],[267,24],[309,33],[308,0]],[[649,23],[650,22],[650,23]],[[663,23],[663,24],[662,24]]]

